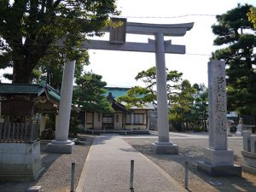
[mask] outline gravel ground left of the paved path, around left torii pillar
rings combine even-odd
[[[48,154],[44,152],[45,144],[41,144],[41,160],[44,172],[36,181],[0,183],[1,192],[26,192],[30,186],[42,186],[44,192],[69,192],[71,163],[76,163],[75,184],[79,183],[84,161],[93,140],[92,136],[81,136],[84,140],[83,145],[75,145],[73,154]]]

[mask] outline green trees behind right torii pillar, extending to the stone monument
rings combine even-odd
[[[126,96],[119,96],[118,102],[125,102],[127,108],[142,107],[145,102],[156,102],[156,68],[151,67],[136,76],[145,87],[135,86],[127,91]],[[206,129],[207,122],[207,88],[204,84],[191,86],[188,80],[182,79],[182,73],[169,71],[166,68],[167,96],[171,103],[169,119],[177,131],[188,127]]]

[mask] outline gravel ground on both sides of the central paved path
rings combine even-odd
[[[41,145],[42,164],[44,172],[36,181],[23,183],[0,183],[1,192],[26,192],[33,185],[42,186],[44,192],[69,192],[71,162],[76,163],[75,183],[79,183],[79,176],[84,166],[84,160],[93,140],[92,136],[84,136],[84,145],[75,145],[73,154],[47,154],[44,152],[45,145]],[[249,191],[256,192],[256,176],[242,172],[242,177],[210,177],[203,172],[198,172],[196,162],[203,160],[202,148],[208,146],[208,139],[173,137],[172,142],[177,143],[179,154],[164,155],[153,154],[150,151],[151,143],[155,139],[149,138],[125,138],[139,152],[160,166],[171,177],[183,186],[184,162],[189,161],[189,190],[188,191]],[[242,140],[229,138],[229,148],[234,151],[235,163],[241,165]],[[136,162],[135,162],[136,166]],[[210,181],[218,181],[219,185],[212,185]]]

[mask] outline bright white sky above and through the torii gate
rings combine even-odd
[[[166,67],[183,73],[183,79],[191,84],[207,85],[207,62],[212,52],[214,35],[211,26],[217,22],[216,15],[222,15],[237,4],[256,6],[255,0],[117,0],[121,17],[127,22],[176,24],[194,22],[194,27],[183,37],[166,37],[172,44],[186,46],[185,55],[166,54]],[[126,35],[126,42],[148,42],[153,36]],[[99,39],[99,38],[94,38]],[[108,33],[102,40],[108,40]],[[143,85],[136,81],[137,73],[155,66],[154,53],[111,51],[90,49],[90,65],[85,71],[102,75],[108,86],[131,87]],[[9,69],[10,72],[10,69]],[[2,82],[8,82],[2,77]]]

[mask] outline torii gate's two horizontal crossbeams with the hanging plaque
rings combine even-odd
[[[126,22],[126,19],[113,18],[113,23],[122,22],[122,25],[117,27],[106,27],[102,31],[110,32],[109,41],[91,40],[85,41],[82,45],[84,49],[112,49],[124,51],[141,51],[141,52],[155,52],[156,47],[153,40],[149,40],[148,44],[125,42],[125,34],[143,34],[143,35],[157,35],[161,33],[164,36],[184,36],[189,31],[194,23],[182,24],[150,24],[150,23],[135,23]],[[164,42],[164,39],[162,39]],[[184,54],[185,46],[172,44],[171,41],[164,42],[166,53]]]

